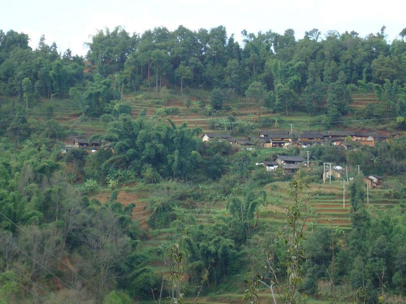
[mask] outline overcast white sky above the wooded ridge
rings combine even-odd
[[[239,42],[243,29],[283,33],[293,28],[298,39],[312,28],[322,35],[335,29],[365,36],[386,25],[392,41],[406,27],[405,9],[404,0],[8,0],[2,4],[0,29],[29,34],[33,48],[45,34],[47,44],[55,41],[59,51],[71,48],[80,55],[86,53],[83,43],[90,41],[96,29],[117,25],[130,33],[156,26],[174,30],[182,24],[196,30],[224,25],[227,34],[234,33]]]

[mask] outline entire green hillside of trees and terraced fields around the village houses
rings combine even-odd
[[[116,27],[81,57],[0,30],[0,303],[406,301],[406,29],[242,33]],[[292,125],[388,139],[200,138]]]

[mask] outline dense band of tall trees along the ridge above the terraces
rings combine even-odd
[[[104,96],[108,101],[119,98],[124,90],[140,88],[159,91],[162,86],[181,90],[190,86],[245,94],[254,85],[259,98],[248,97],[260,101],[259,107],[287,115],[292,108],[301,108],[336,119],[348,112],[351,90],[357,89],[375,91],[384,101],[383,106],[368,109],[370,116],[404,115],[406,30],[392,43],[386,41],[384,26],[366,37],[355,31],[328,31],[322,37],[318,29],[301,39],[292,29],[283,34],[272,30],[242,33],[240,46],[233,35],[227,36],[224,26],[198,31],[157,27],[143,34],[116,27],[93,35],[86,57],[81,58],[72,56],[69,49],[60,56],[55,44],[49,47],[44,39],[31,50],[27,35],[0,31],[0,93],[21,98],[24,92],[65,96],[72,86],[90,89],[83,80],[93,81],[99,74],[110,80],[106,85],[115,91]],[[100,91],[92,86],[82,99],[89,103],[92,96],[88,95]]]

